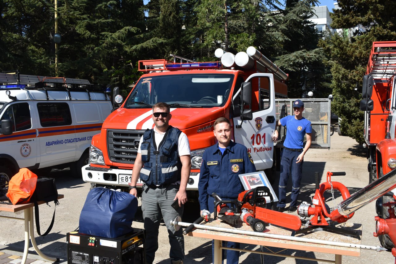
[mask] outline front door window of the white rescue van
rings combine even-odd
[[[11,120],[13,132],[32,128],[29,103],[15,103],[9,105],[6,111],[4,111],[4,115],[1,120],[3,119]]]

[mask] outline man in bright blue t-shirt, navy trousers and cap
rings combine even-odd
[[[303,117],[304,102],[297,99],[293,102],[294,115],[280,119],[278,126],[286,126],[286,139],[283,143],[282,159],[280,161],[280,180],[278,204],[279,212],[286,210],[286,186],[291,173],[292,189],[291,203],[288,212],[297,210],[297,197],[300,193],[301,177],[303,174],[304,155],[311,146],[311,122]],[[304,136],[307,135],[307,143],[303,147]],[[275,128],[272,140],[278,140],[278,130]]]

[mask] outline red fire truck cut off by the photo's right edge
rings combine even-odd
[[[395,73],[396,41],[373,42],[360,101],[360,110],[364,111],[369,183],[396,168]],[[396,193],[396,189],[392,192]],[[377,200],[377,214],[381,218],[389,216],[383,203],[394,201],[394,198],[390,194]],[[393,247],[387,235],[379,238],[384,247]]]

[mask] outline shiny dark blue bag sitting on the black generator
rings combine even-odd
[[[79,232],[116,238],[131,232],[137,198],[129,193],[103,187],[89,191],[80,214]]]

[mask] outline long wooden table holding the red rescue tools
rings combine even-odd
[[[214,220],[208,223],[201,223],[208,226],[215,226],[221,228],[233,228],[227,223],[221,222],[220,220]],[[344,223],[340,224],[344,226],[344,228],[348,230],[357,231],[358,234],[362,235],[362,225],[361,224],[352,224],[352,223]],[[238,224],[238,230],[247,230],[252,231],[251,227],[247,226],[245,223]],[[291,231],[285,230],[283,228],[279,228],[277,226],[268,226],[267,230],[265,231],[270,234],[276,235],[291,235]],[[240,235],[234,233],[226,233],[226,232],[218,232],[218,231],[211,231],[211,230],[204,230],[204,229],[196,229],[190,233],[189,236],[192,237],[202,237],[214,240],[214,264],[221,263],[221,253],[223,249],[229,249],[227,247],[222,247],[222,241],[232,241],[232,242],[240,242],[250,245],[259,245],[261,247],[276,247],[278,250],[268,249],[270,253],[262,252],[262,251],[251,251],[246,249],[231,249],[231,250],[239,250],[247,253],[258,253],[263,255],[272,255],[272,256],[280,256],[284,258],[298,258],[303,260],[314,260],[314,261],[323,261],[329,263],[336,263],[341,264],[342,262],[342,255],[346,256],[360,256],[360,249],[358,248],[350,248],[350,247],[339,247],[339,246],[331,246],[331,245],[322,245],[316,243],[307,243],[307,242],[299,242],[299,241],[290,241],[290,240],[283,240],[283,239],[274,239],[274,238],[267,238],[267,237],[255,237],[249,235]],[[337,242],[344,242],[344,243],[352,243],[352,244],[360,244],[361,241],[354,237],[349,237],[346,235],[339,235],[327,231],[314,231],[307,234],[298,234],[296,237],[305,237],[311,239],[321,239],[325,241],[337,241]],[[280,252],[286,249],[294,249],[299,251],[310,251],[310,252],[320,252],[320,253],[328,253],[334,254],[334,260],[326,260],[326,259],[316,259],[316,258],[305,258],[305,257],[297,257],[297,256],[290,256],[285,254],[279,254]]]

